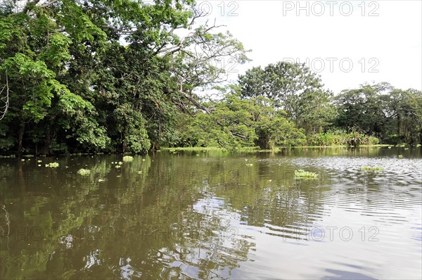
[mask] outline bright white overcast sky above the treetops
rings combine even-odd
[[[198,4],[210,11],[207,18],[226,25],[246,49],[252,49],[252,62],[234,68],[239,74],[253,66],[298,60],[319,72],[335,94],[364,82],[422,89],[421,0]],[[232,66],[226,62],[226,69]],[[236,79],[238,73],[229,77]]]

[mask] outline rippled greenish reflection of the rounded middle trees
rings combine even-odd
[[[242,160],[233,160],[227,166],[234,177],[215,192],[241,213],[243,224],[267,227],[271,234],[288,237],[295,225],[310,226],[320,219],[328,178],[295,180],[290,165],[259,160],[251,167]]]

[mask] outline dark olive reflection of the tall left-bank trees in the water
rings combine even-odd
[[[45,177],[41,178],[50,178],[49,184],[36,186],[30,196],[20,193],[24,205],[12,216],[20,227],[51,229],[49,237],[30,245],[13,242],[2,259],[2,276],[202,279],[229,276],[239,261],[246,260],[250,244],[230,238],[230,227],[218,216],[193,209],[205,197],[212,165],[200,158],[167,155],[145,161],[135,157],[120,169],[111,161],[113,157],[66,158],[60,161],[62,168],[39,172]],[[80,167],[91,170],[89,177],[76,174]],[[30,189],[30,184],[23,189]]]

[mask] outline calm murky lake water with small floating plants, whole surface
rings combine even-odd
[[[0,279],[422,278],[421,148],[121,160],[0,159]]]

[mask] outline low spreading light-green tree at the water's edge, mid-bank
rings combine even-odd
[[[305,144],[302,131],[286,119],[283,110],[268,106],[271,104],[268,98],[243,99],[238,87],[230,88],[222,101],[212,103],[215,110],[196,116],[191,129],[204,144],[216,142],[225,148],[259,146],[262,149]]]

